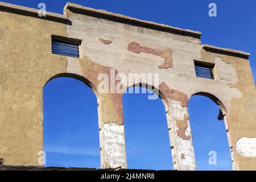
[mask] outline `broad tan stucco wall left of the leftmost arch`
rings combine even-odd
[[[0,157],[5,165],[37,166],[43,151],[43,87],[66,72],[51,53],[65,24],[0,11]]]

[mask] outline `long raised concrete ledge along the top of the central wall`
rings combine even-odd
[[[77,5],[75,3],[69,3],[68,2],[64,7],[64,14],[65,14],[65,11],[67,9],[69,9],[69,10],[79,10],[79,11],[84,11],[84,12],[88,12],[88,13],[91,13],[91,14],[104,15],[104,16],[108,16],[108,17],[111,17],[111,18],[115,18],[115,19],[127,20],[129,22],[134,22],[134,23],[143,24],[143,25],[147,25],[147,26],[158,27],[158,28],[162,28],[163,30],[171,30],[171,31],[174,31],[174,32],[179,32],[179,33],[183,33],[183,34],[187,34],[187,35],[193,35],[193,36],[196,36],[199,39],[200,39],[200,36],[202,35],[202,33],[199,32],[199,31],[187,30],[187,29],[172,27],[172,26],[169,26],[167,24],[160,24],[160,23],[155,23],[155,22],[151,22],[151,21],[132,18],[130,16],[117,14],[117,13],[112,13],[112,12],[105,11],[105,10],[97,10],[97,9],[93,9],[93,8],[90,8],[90,7]]]

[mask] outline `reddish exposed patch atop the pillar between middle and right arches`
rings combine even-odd
[[[165,82],[159,85],[159,90],[163,92],[164,96],[174,101],[180,101],[181,107],[188,106],[188,96],[178,90],[170,89]]]

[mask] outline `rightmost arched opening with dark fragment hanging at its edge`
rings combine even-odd
[[[197,170],[231,170],[225,113],[212,101],[216,97],[205,96],[192,96],[188,102]]]

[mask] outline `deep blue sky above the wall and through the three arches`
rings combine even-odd
[[[203,33],[202,44],[250,52],[250,65],[254,80],[256,78],[256,1],[253,0],[2,1],[33,8],[44,2],[47,11],[60,14],[66,2],[73,2],[197,30]],[[210,2],[217,5],[217,17],[208,16]],[[145,98],[146,94],[126,94],[123,97],[129,168],[172,169],[162,101]],[[197,168],[231,169],[224,122],[217,120],[218,107],[208,98],[194,96],[189,101],[189,115]],[[149,125],[145,127],[144,123]],[[143,130],[142,133],[138,129]],[[48,151],[47,166],[100,167],[96,97],[82,82],[57,78],[44,88],[44,144]],[[143,146],[148,146],[147,150]],[[212,150],[217,152],[217,165],[208,164],[208,152]]]

